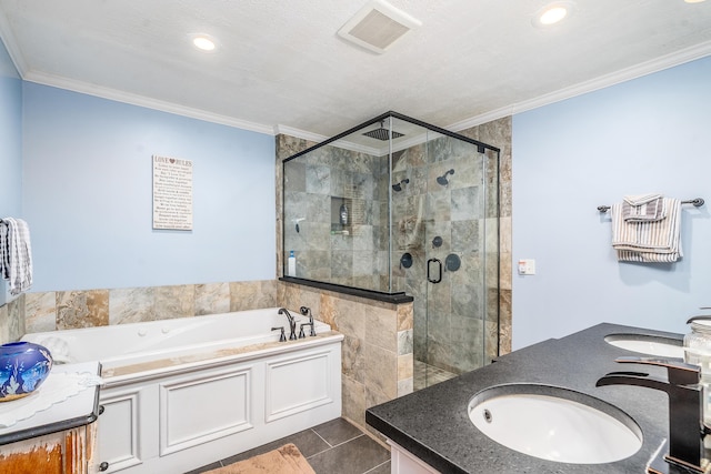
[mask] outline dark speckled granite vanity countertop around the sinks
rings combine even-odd
[[[668,396],[638,386],[602,386],[610,372],[634,370],[667,379],[657,366],[618,364],[621,355],[643,355],[604,341],[609,334],[633,333],[681,341],[681,334],[602,323],[559,340],[548,340],[497,362],[431,387],[368,409],[365,421],[385,437],[442,473],[644,473],[650,458],[668,436]],[[507,383],[547,384],[571,389],[618,406],[642,430],[642,447],[622,461],[568,464],[528,456],[481,433],[469,418],[468,406],[483,389]],[[672,470],[673,472],[673,470]]]

